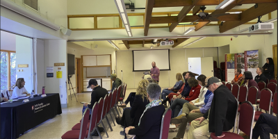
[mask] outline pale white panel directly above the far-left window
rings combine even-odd
[[[15,34],[1,31],[1,50],[15,51]]]

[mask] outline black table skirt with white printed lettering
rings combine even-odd
[[[19,138],[20,134],[62,113],[58,93],[22,101],[1,104],[1,139]]]

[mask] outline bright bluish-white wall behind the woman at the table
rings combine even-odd
[[[16,67],[17,79],[24,78],[24,87],[28,92],[33,90],[32,84],[32,39],[16,35]],[[18,67],[19,64],[28,64],[28,67]],[[23,72],[18,72],[23,70]]]

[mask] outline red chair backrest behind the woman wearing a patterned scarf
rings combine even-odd
[[[172,110],[171,108],[167,108],[161,120],[161,133],[159,139],[168,138],[171,116],[172,116]]]

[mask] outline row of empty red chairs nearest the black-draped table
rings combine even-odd
[[[122,87],[123,86],[123,87]],[[122,90],[123,89],[123,90]],[[111,111],[113,112],[114,116],[120,115],[117,111],[117,103],[120,101],[120,94],[123,92],[125,95],[126,92],[126,84],[120,85],[118,88],[113,90],[110,94],[106,95],[103,98],[99,99],[98,102],[95,102],[94,106],[92,107],[92,113],[90,114],[90,109],[86,108],[82,119],[80,120],[80,123],[75,124],[72,127],[71,131],[67,131],[61,138],[62,139],[84,139],[84,138],[92,138],[90,136],[90,133],[94,131],[94,129],[97,130],[97,133],[99,134],[99,138],[101,137],[100,131],[97,128],[99,124],[101,124],[104,128],[104,131],[106,133],[107,138],[108,133],[105,129],[104,123],[102,122],[103,118],[106,119],[106,122],[108,123],[109,128],[111,131],[113,131],[112,126],[108,120],[108,113],[111,116],[112,122],[115,126],[115,122],[113,121],[113,117],[111,115]],[[115,114],[114,109],[117,111],[117,115]],[[119,108],[120,110],[120,108]],[[121,113],[121,111],[120,111]],[[89,120],[89,115],[90,120]]]

